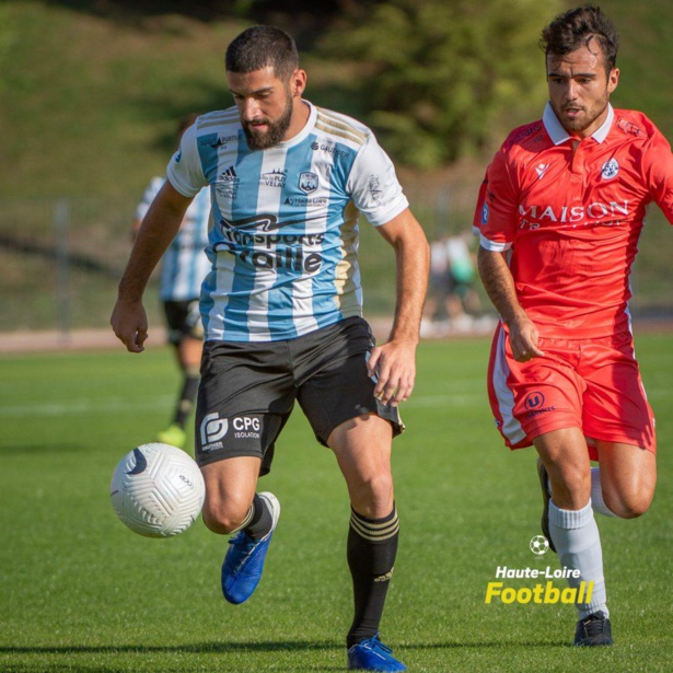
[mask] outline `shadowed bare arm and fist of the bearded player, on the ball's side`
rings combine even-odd
[[[166,181],[138,230],[130,258],[119,281],[117,303],[109,324],[130,352],[142,352],[148,338],[148,320],[142,294],[154,267],[177,233],[192,198]]]

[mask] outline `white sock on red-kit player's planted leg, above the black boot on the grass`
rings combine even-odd
[[[599,610],[607,617],[607,595],[603,576],[603,550],[591,500],[581,510],[561,510],[549,501],[549,534],[562,568],[579,570],[580,577],[568,578],[570,587],[593,582],[590,603],[578,603],[580,619]]]

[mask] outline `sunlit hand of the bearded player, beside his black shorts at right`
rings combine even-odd
[[[388,341],[372,350],[369,375],[376,379],[374,395],[396,407],[411,395],[416,380],[416,345],[403,340]]]

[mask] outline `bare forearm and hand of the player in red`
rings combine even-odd
[[[537,328],[517,298],[514,279],[504,258],[504,253],[479,247],[477,267],[486,293],[508,327],[514,359],[519,362],[525,362],[532,358],[544,356],[545,353],[537,346]]]

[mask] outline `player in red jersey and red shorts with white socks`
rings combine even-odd
[[[580,646],[612,645],[594,511],[639,517],[654,492],[628,277],[647,205],[673,222],[670,144],[643,114],[610,104],[617,42],[591,5],[544,28],[549,102],[495,155],[475,213],[479,274],[501,317],[491,408],[507,445],[539,454],[543,532],[579,569],[569,582],[594,583],[578,605]]]

